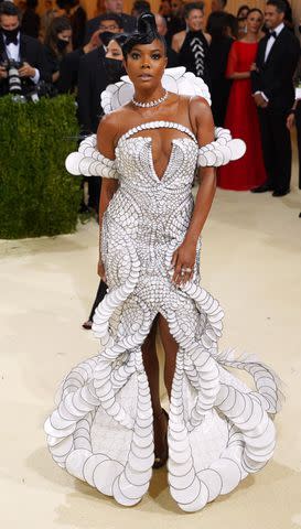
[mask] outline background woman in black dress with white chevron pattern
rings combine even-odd
[[[184,18],[187,29],[173,35],[171,47],[179,54],[179,64],[185,66],[187,72],[193,72],[208,85],[207,56],[211,35],[203,32],[204,11],[202,4],[186,3]]]

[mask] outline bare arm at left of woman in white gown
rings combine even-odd
[[[115,138],[118,133],[118,127],[116,126],[115,119],[111,117],[105,116],[97,130],[97,149],[101,154],[109,160],[115,159]],[[99,261],[98,261],[98,276],[106,282],[106,272],[105,267],[101,260],[100,255],[100,239],[101,239],[101,227],[104,215],[107,210],[107,207],[118,190],[118,180],[116,179],[103,179],[101,180],[101,192],[99,201]]]

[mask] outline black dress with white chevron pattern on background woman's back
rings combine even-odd
[[[196,77],[209,85],[208,75],[209,45],[203,31],[189,31],[179,52],[179,64],[185,66]]]

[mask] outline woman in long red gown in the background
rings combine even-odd
[[[217,185],[225,190],[249,191],[266,180],[260,129],[251,95],[250,68],[257,54],[264,15],[251,9],[247,17],[247,33],[230,50],[226,76],[233,79],[225,127],[247,144],[245,156],[229,166],[221,168]]]

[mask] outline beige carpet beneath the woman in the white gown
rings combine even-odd
[[[284,381],[275,460],[230,495],[185,515],[165,471],[121,508],[61,471],[43,422],[72,366],[97,350],[80,328],[98,279],[97,225],[53,239],[0,241],[3,529],[290,529],[301,527],[301,192],[217,192],[203,238],[203,284],[226,311],[223,347],[255,353]]]

